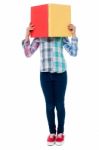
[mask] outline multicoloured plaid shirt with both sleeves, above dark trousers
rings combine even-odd
[[[70,55],[76,56],[77,43],[77,37],[71,38],[71,41],[67,37],[50,37],[34,38],[31,44],[29,40],[23,40],[22,46],[27,57],[30,57],[40,47],[41,72],[62,73],[67,68],[63,47]]]

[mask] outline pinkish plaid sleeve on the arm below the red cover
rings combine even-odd
[[[39,47],[40,39],[34,38],[30,44],[30,40],[23,40],[22,47],[24,48],[24,53],[27,57],[30,57]]]

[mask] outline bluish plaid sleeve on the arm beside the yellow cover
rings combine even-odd
[[[71,41],[68,39],[68,37],[64,37],[63,46],[71,56],[77,56],[77,51],[78,51],[78,38],[77,37],[72,37]]]

